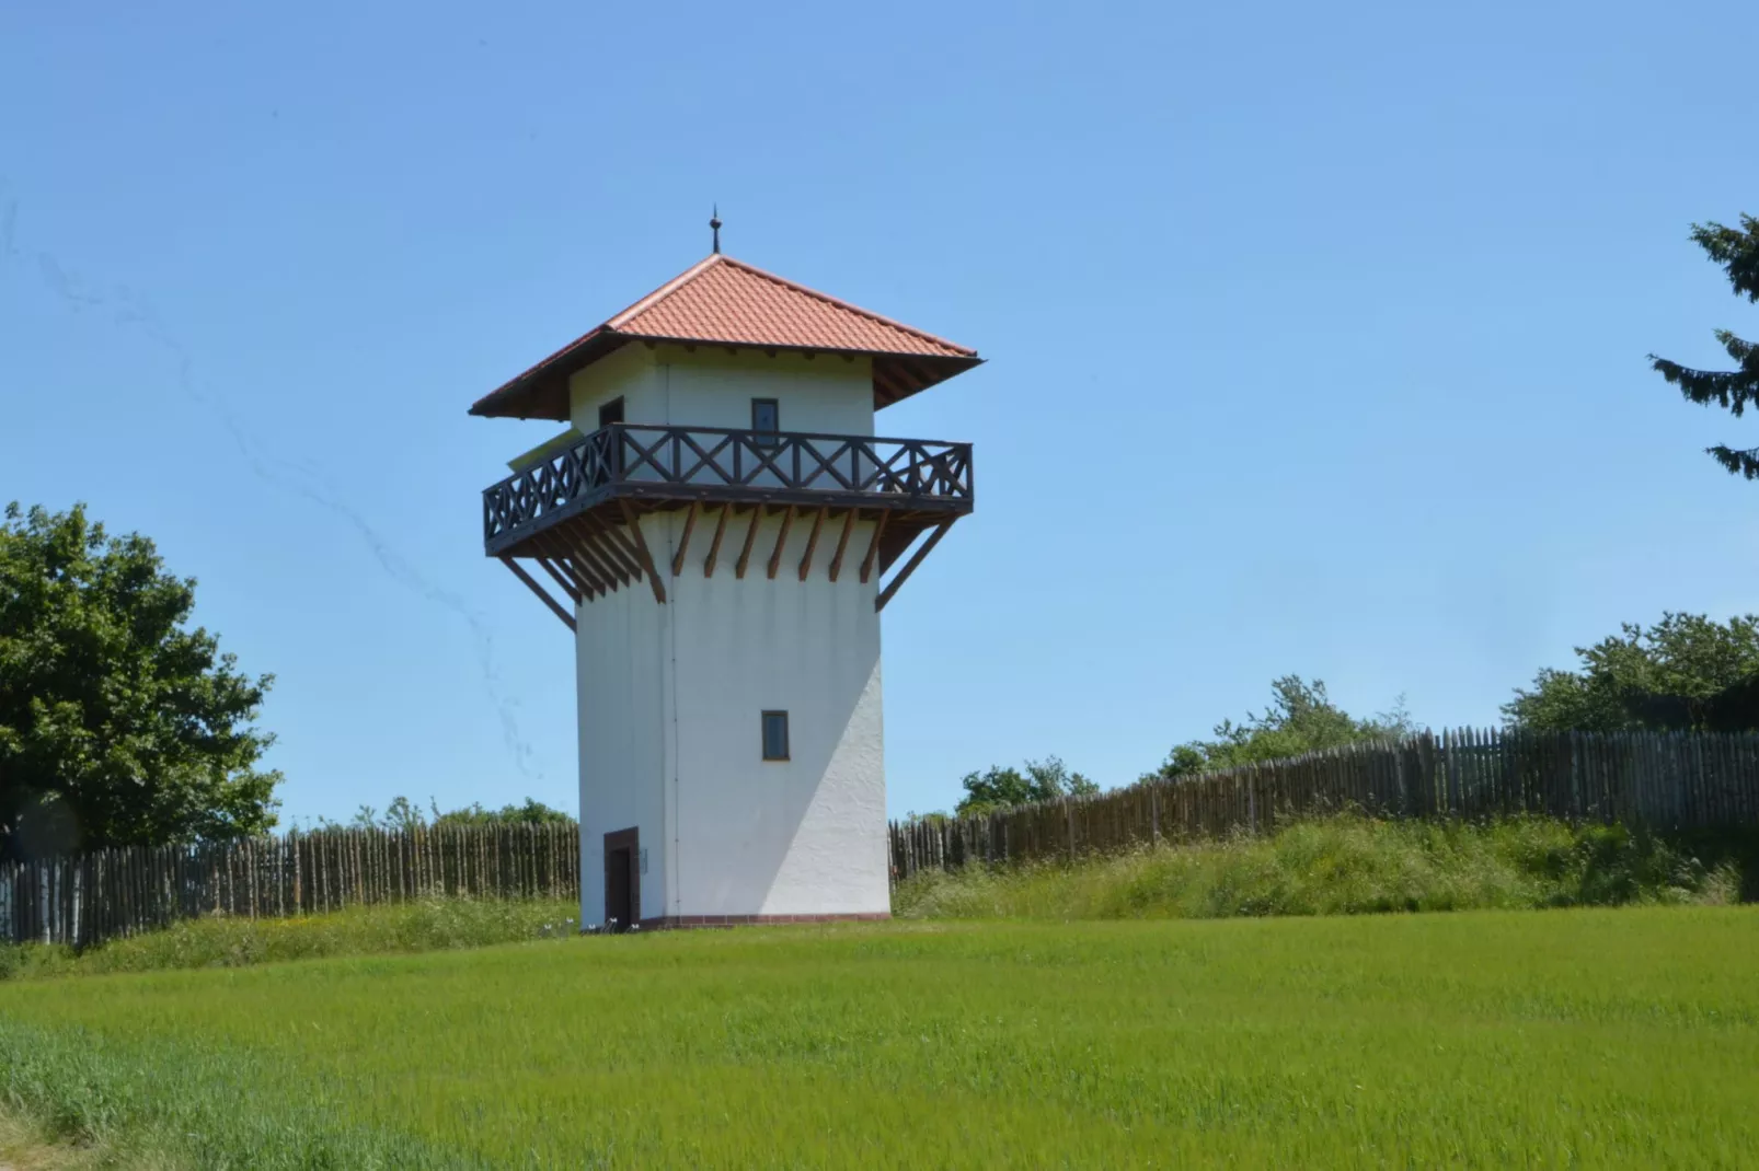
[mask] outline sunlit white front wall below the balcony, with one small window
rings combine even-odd
[[[857,526],[832,584],[841,520],[828,520],[802,582],[811,522],[797,519],[769,580],[781,526],[772,517],[737,580],[741,520],[728,522],[716,573],[704,578],[712,517],[700,517],[684,571],[668,584],[677,647],[672,913],[887,911],[880,615],[876,582],[860,582],[871,526]],[[684,513],[649,524],[668,559]],[[788,712],[788,761],[763,760],[765,710]]]

